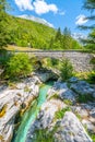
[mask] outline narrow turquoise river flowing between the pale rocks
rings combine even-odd
[[[47,83],[39,90],[39,96],[32,107],[24,114],[17,133],[13,142],[25,142],[28,129],[36,119],[39,108],[46,100],[47,92],[52,86],[52,83]]]

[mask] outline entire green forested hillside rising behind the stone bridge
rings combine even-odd
[[[79,49],[80,44],[73,39],[69,29],[63,34],[29,20],[23,20],[0,12],[0,46],[7,44],[38,49]],[[23,26],[22,26],[23,25]]]

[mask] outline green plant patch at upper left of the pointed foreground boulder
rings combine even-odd
[[[63,108],[63,109],[61,109],[61,110],[58,110],[58,111],[56,113],[56,115],[55,115],[55,118],[56,118],[56,119],[61,119],[61,118],[63,118],[66,111],[71,111],[70,107],[66,107],[66,108]]]

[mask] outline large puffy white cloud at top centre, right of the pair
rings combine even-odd
[[[34,4],[35,12],[37,14],[48,13],[49,11],[54,13],[58,12],[58,8],[56,4],[54,3],[48,4],[45,2],[45,0],[36,0],[33,4]]]

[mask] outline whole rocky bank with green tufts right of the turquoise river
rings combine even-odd
[[[78,98],[81,97],[86,103],[80,103]],[[85,81],[72,78],[68,83],[56,82],[48,91],[47,102],[31,126],[26,142],[45,141],[45,138],[48,142],[95,141],[86,131],[95,134],[95,88]]]

